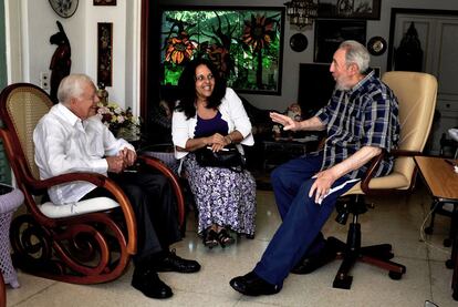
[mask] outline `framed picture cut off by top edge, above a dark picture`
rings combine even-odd
[[[320,0],[320,18],[381,19],[382,0]]]

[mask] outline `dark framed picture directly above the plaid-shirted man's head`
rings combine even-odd
[[[315,21],[314,62],[331,63],[341,42],[355,40],[366,45],[365,20],[323,20]]]

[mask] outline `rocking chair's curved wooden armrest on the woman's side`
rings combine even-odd
[[[179,184],[178,176],[160,160],[148,156],[139,155],[138,160],[148,165],[152,168],[155,168],[163,173],[170,182],[171,187],[174,188],[175,195],[177,197],[177,209],[178,209],[178,223],[180,226],[185,223],[185,196]]]

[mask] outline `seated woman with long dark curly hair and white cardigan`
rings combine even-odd
[[[211,146],[215,152],[236,144],[252,146],[251,123],[236,92],[226,88],[210,61],[188,63],[178,81],[180,100],[173,115],[175,156],[189,180],[199,212],[198,233],[204,244],[222,247],[232,244],[229,229],[254,235],[256,182],[246,170],[200,166],[196,150]]]

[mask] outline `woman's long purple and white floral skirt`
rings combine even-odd
[[[202,167],[194,153],[186,155],[184,167],[199,212],[199,234],[218,224],[254,235],[256,181],[250,172]]]

